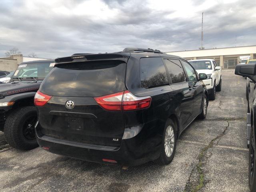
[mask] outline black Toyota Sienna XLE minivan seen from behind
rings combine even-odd
[[[38,144],[91,162],[169,164],[177,139],[199,116],[208,92],[184,59],[158,50],[57,58],[36,93]]]

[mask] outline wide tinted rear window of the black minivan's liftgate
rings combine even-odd
[[[57,64],[41,86],[50,96],[96,97],[126,90],[126,63],[119,60]]]

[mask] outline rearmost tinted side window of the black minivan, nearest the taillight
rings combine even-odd
[[[160,57],[140,59],[140,81],[145,88],[169,84],[164,63]]]

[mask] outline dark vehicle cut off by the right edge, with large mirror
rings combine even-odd
[[[247,107],[247,143],[249,147],[249,186],[250,191],[256,191],[256,64],[239,64],[236,66],[236,75],[247,77],[248,79],[248,100]]]

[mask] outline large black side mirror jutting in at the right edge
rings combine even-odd
[[[235,74],[248,77],[254,83],[256,82],[256,64],[238,64],[235,69]]]

